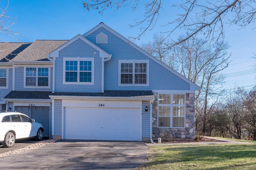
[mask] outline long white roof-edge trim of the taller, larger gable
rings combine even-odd
[[[135,49],[137,49],[138,51],[143,53],[144,55],[148,56],[150,59],[152,59],[156,63],[162,65],[164,68],[166,68],[170,72],[174,73],[174,75],[178,76],[180,79],[182,79],[182,80],[186,81],[187,83],[189,83],[190,84],[190,90],[198,91],[198,90],[201,89],[201,87],[199,87],[198,85],[196,85],[195,83],[193,83],[192,81],[190,81],[189,79],[187,79],[186,77],[184,77],[183,75],[181,75],[180,73],[178,73],[177,71],[175,71],[174,69],[172,69],[171,67],[169,67],[168,65],[166,65],[165,63],[160,61],[159,59],[157,59],[156,57],[154,57],[153,55],[149,54],[144,49],[140,48],[138,45],[136,45],[135,43],[131,42],[130,40],[128,40],[127,38],[125,38],[124,36],[122,36],[121,34],[116,32],[115,30],[113,30],[112,28],[106,26],[103,22],[101,22],[98,26],[92,28],[92,30],[86,32],[83,36],[87,37],[90,34],[92,34],[93,32],[95,32],[96,30],[98,30],[99,28],[104,28],[104,29],[108,30],[109,32],[111,32],[112,34],[114,34],[115,36],[117,36],[118,38],[123,40],[124,42],[128,43],[129,45],[131,45],[132,47],[134,47]]]

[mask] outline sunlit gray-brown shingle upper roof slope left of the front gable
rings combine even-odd
[[[68,40],[36,40],[12,61],[47,61],[47,54],[66,42]]]

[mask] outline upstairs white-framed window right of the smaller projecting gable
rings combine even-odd
[[[148,60],[119,60],[120,86],[148,86]]]

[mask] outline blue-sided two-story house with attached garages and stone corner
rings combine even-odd
[[[104,23],[71,40],[0,43],[0,109],[54,139],[193,140],[200,87]]]

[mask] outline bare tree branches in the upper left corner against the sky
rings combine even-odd
[[[5,1],[6,4],[2,0],[0,0],[0,33],[2,35],[10,36],[16,39],[16,35],[20,35],[19,32],[15,32],[12,30],[12,26],[16,24],[14,17],[10,17],[6,14],[6,10],[9,6],[9,0]],[[4,38],[0,37],[0,41],[4,41]]]

